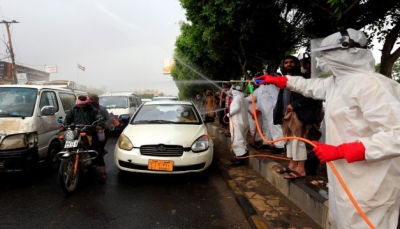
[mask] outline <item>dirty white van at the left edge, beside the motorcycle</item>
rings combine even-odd
[[[0,172],[24,171],[38,162],[56,167],[59,122],[75,100],[76,91],[61,86],[0,85]]]

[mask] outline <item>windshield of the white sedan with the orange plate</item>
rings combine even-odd
[[[131,124],[201,124],[199,114],[193,105],[187,104],[152,104],[143,105]]]

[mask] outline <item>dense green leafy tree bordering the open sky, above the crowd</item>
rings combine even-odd
[[[283,55],[304,38],[282,29],[276,18],[260,10],[263,0],[181,0],[181,4],[190,22],[181,28],[177,49],[211,78],[248,79],[258,72],[273,72]]]

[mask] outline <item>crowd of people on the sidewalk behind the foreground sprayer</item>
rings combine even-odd
[[[286,56],[281,62],[280,71],[284,75],[310,78],[310,66],[310,56],[304,55],[301,60],[295,56]],[[226,135],[232,139],[232,150],[236,156],[231,165],[244,165],[243,157],[248,155],[247,145],[250,145],[257,149],[270,150],[273,154],[286,152],[290,163],[287,167],[279,168],[277,172],[287,173],[284,176],[287,179],[315,175],[319,162],[304,142],[288,140],[269,144],[265,140],[276,140],[283,136],[319,140],[322,101],[306,98],[288,89],[279,89],[273,84],[254,86],[255,111],[251,104],[251,95],[245,95],[244,88],[228,82],[222,83],[222,90],[218,95],[216,93],[214,96],[211,90],[207,90],[205,98],[197,94],[193,100],[200,112],[211,117],[218,116],[219,123],[226,128]],[[257,130],[255,119],[259,123],[262,136]],[[251,135],[251,142],[246,140],[248,134]],[[307,155],[310,160],[317,160],[317,163],[308,163],[306,168]]]

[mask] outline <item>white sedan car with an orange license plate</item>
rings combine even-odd
[[[121,133],[114,162],[129,172],[204,171],[213,160],[214,146],[205,122],[191,102],[144,103]]]

